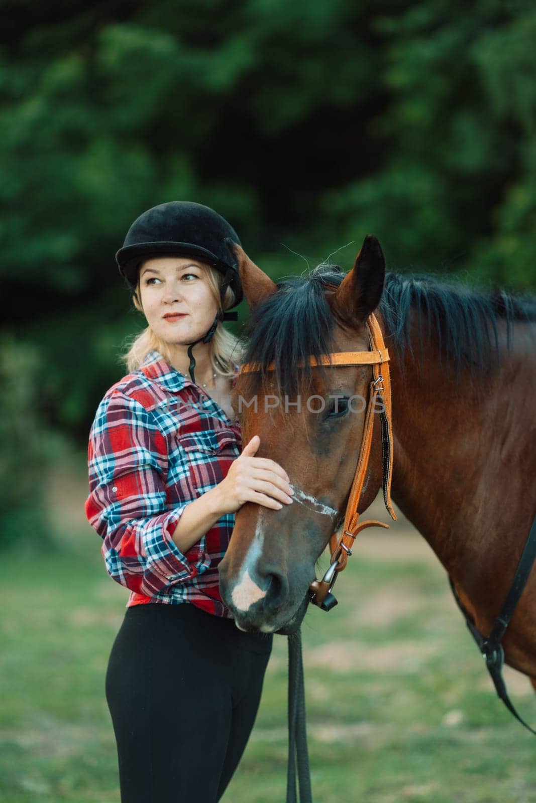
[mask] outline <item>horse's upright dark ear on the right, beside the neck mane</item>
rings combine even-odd
[[[367,234],[354,267],[342,279],[333,304],[344,320],[364,324],[378,306],[385,281],[385,259],[378,240]]]

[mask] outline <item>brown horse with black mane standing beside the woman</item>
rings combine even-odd
[[[348,273],[321,264],[279,284],[235,250],[251,311],[245,361],[260,371],[239,375],[232,403],[243,442],[258,434],[256,456],[280,463],[295,490],[281,510],[236,514],[220,564],[235,622],[288,632],[305,614],[315,562],[344,519],[372,375],[308,358],[369,349],[374,312],[391,358],[392,497],[488,634],[536,512],[536,300],[386,275],[371,236]],[[381,483],[378,421],[359,512]],[[536,688],[536,570],[503,644]]]

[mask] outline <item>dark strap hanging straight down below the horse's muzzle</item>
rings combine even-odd
[[[313,803],[307,729],[301,630],[288,636],[288,768],[287,803],[297,803],[296,768],[300,803]]]

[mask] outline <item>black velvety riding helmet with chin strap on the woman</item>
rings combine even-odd
[[[117,251],[119,271],[129,286],[135,290],[137,273],[141,263],[153,256],[191,256],[215,267],[223,273],[220,290],[220,305],[227,287],[235,293],[234,307],[243,299],[238,266],[231,242],[241,245],[238,235],[225,218],[200,203],[170,201],[153,206],[130,226],[123,247]],[[208,343],[219,320],[237,320],[236,312],[219,312],[211,328],[203,336],[189,344],[190,377],[194,379],[195,360],[192,348],[200,340]]]

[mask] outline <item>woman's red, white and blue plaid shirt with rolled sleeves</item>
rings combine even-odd
[[[104,395],[89,433],[84,507],[103,539],[108,574],[130,589],[127,608],[190,602],[231,618],[218,565],[235,514],[222,516],[185,554],[171,535],[186,505],[227,475],[241,446],[238,423],[158,351]]]

